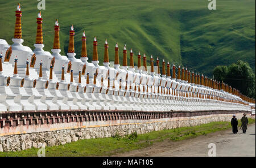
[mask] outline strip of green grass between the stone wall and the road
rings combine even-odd
[[[249,123],[255,123],[255,119],[249,119]],[[241,122],[239,121],[239,126]],[[131,135],[101,139],[78,140],[65,145],[46,147],[46,156],[111,156],[130,150],[142,149],[163,140],[185,140],[207,133],[231,128],[230,122],[212,122],[195,127],[181,127],[171,130],[153,131],[142,135],[134,132]],[[37,156],[38,149],[31,148],[19,152],[0,152],[0,156]]]

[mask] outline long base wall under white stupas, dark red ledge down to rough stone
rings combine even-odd
[[[246,111],[20,111],[1,114],[0,152],[230,121]],[[251,116],[251,117],[255,117]]]

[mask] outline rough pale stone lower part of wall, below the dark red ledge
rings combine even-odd
[[[84,126],[60,128],[55,131],[20,133],[16,135],[0,136],[0,152],[17,151],[40,148],[42,145],[53,146],[71,143],[80,139],[111,137],[116,133],[119,135],[129,135],[136,131],[138,134],[172,129],[178,127],[192,127],[210,122],[230,121],[233,114],[211,114],[196,117],[172,117],[160,119],[127,119],[86,122]],[[237,118],[242,117],[238,112]]]

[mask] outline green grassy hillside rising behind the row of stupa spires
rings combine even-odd
[[[0,38],[12,44],[15,10],[22,5],[24,45],[34,49],[38,1],[0,0]],[[74,25],[77,58],[81,53],[81,36],[85,30],[89,59],[93,37],[97,36],[100,62],[104,41],[108,38],[110,59],[114,44],[158,55],[171,63],[211,75],[216,65],[249,62],[255,72],[255,1],[221,0],[217,10],[208,10],[207,0],[46,0],[42,11],[45,50],[53,45],[53,27],[59,19],[61,54],[67,53],[69,28]],[[137,62],[137,59],[135,59]]]

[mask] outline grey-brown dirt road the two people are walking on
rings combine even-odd
[[[234,135],[232,130],[225,130],[183,141],[164,140],[117,156],[208,156],[209,143],[216,144],[216,156],[255,157],[255,124],[248,126],[246,134],[239,130]]]

